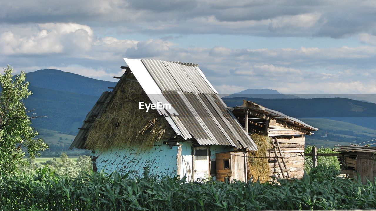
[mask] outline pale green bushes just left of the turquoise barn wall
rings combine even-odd
[[[56,158],[48,160],[44,163],[35,163],[34,159],[27,159],[27,163],[19,165],[20,172],[34,174],[39,173],[41,175],[56,173],[59,176],[67,176],[68,178],[75,178],[79,175],[79,172],[91,171],[91,159],[89,156],[81,155],[77,157],[76,161],[68,159],[68,155],[64,152],[60,155],[61,162],[58,162]]]

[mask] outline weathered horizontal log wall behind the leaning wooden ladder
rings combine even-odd
[[[304,174],[304,154],[305,137],[277,138],[281,146],[282,155],[285,157],[290,178],[302,178]],[[266,154],[269,160],[270,176],[282,178],[280,168],[274,158],[274,151],[270,149]],[[281,159],[279,159],[282,163]]]

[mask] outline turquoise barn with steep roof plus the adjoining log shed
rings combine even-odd
[[[302,176],[304,135],[317,128],[252,102],[227,108],[197,64],[124,60],[70,146],[91,149],[94,170],[246,181],[258,133],[273,137],[268,176]]]

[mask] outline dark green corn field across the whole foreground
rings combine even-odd
[[[114,172],[77,178],[0,175],[2,210],[294,210],[376,208],[374,183],[337,177],[319,166],[303,179],[276,183],[186,182],[144,173],[132,179]],[[279,182],[279,183],[277,183]],[[30,209],[32,208],[32,209]]]

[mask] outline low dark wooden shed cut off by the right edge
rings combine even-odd
[[[335,146],[334,151],[341,152],[341,157],[338,157],[341,173],[347,177],[356,178],[359,174],[363,184],[376,177],[376,147]]]

